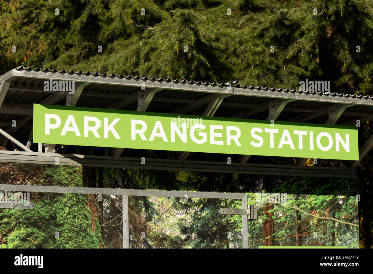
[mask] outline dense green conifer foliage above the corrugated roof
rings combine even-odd
[[[367,0],[12,0],[1,9],[0,73],[23,64],[284,88],[309,78],[372,92]]]

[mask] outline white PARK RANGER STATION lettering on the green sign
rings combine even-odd
[[[119,134],[123,134],[123,128],[120,128],[123,127],[123,124],[120,124],[123,121],[121,118],[111,117],[109,121],[108,117],[101,116],[98,118],[82,115],[80,118],[76,118],[78,116],[74,117],[74,115],[70,114],[66,115],[67,117],[65,116],[64,120],[62,120],[57,114],[45,113],[44,115],[45,128],[43,132],[49,136],[52,133],[58,133],[59,136],[69,136],[72,133],[70,137],[82,137],[83,135],[83,137],[87,138],[94,136],[95,138],[107,139],[114,137],[115,139],[121,139]],[[117,131],[118,129],[120,131]],[[131,140],[155,141],[155,143],[159,141],[166,143],[192,142],[194,144],[209,143],[217,146],[227,145],[237,147],[241,147],[242,143],[244,143],[246,146],[250,144],[251,147],[262,147],[263,149],[308,150],[307,141],[309,140],[309,150],[314,150],[315,144],[317,150],[324,152],[330,150],[335,152],[340,152],[341,150],[350,152],[351,150],[351,137],[348,133],[328,133],[326,131],[314,133],[314,131],[289,130],[283,127],[278,129],[254,126],[249,128],[249,131],[246,129],[245,132],[249,132],[249,136],[241,136],[241,132],[243,132],[242,127],[223,125],[218,122],[207,125],[196,123],[188,128],[188,123],[186,122],[178,124],[178,121],[173,120],[165,122],[159,119],[159,121],[153,120],[153,122],[149,122],[131,119],[130,130]],[[114,138],[112,140],[115,140]]]

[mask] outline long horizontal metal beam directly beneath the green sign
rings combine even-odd
[[[56,165],[55,157],[59,157],[60,165],[68,166],[99,166],[111,168],[141,168],[160,170],[184,170],[223,173],[269,174],[291,176],[322,176],[322,177],[356,177],[353,168],[328,168],[295,165],[269,165],[254,163],[232,163],[226,161],[191,161],[172,159],[147,159],[146,165],[141,165],[138,157],[90,156],[79,154],[37,153],[22,151],[0,151],[0,162],[39,163]],[[37,157],[35,157],[37,156]]]

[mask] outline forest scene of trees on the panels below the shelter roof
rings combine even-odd
[[[258,219],[248,221],[249,248],[359,248],[356,179],[2,163],[0,180],[241,192],[247,194],[248,204],[258,207]],[[0,193],[0,200],[7,198]],[[0,248],[122,248],[122,196],[31,192],[29,200],[33,210],[0,209]],[[242,208],[242,202],[129,196],[129,247],[242,248],[242,216],[220,214],[220,208]]]

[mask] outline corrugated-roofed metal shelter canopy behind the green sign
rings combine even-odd
[[[51,79],[73,81],[74,92],[46,89]],[[360,145],[358,160],[326,159],[324,166],[325,159],[318,159],[305,166],[308,158],[33,143],[34,103],[329,125],[373,120],[370,96],[21,66],[0,76],[1,162],[355,177],[355,167],[373,146],[372,136]]]

